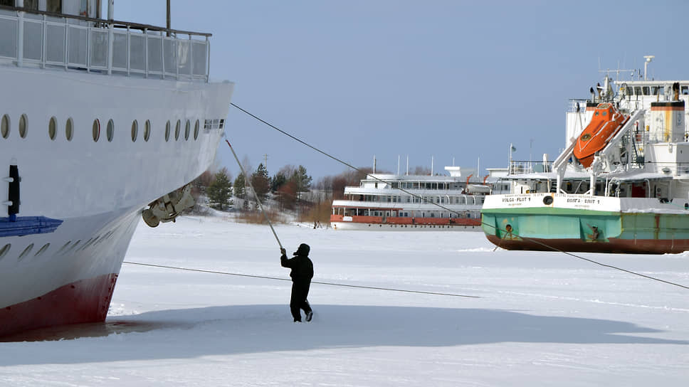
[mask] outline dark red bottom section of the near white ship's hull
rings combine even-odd
[[[104,322],[117,274],[72,282],[0,309],[0,336],[42,327]]]

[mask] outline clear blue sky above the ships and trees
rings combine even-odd
[[[115,18],[164,26],[164,0],[117,0]],[[211,78],[233,102],[354,166],[506,167],[564,147],[569,98],[601,68],[689,79],[685,1],[172,1],[172,28],[213,33]],[[231,108],[226,132],[254,169],[342,164]],[[530,144],[532,150],[530,151]],[[221,165],[238,167],[227,147]]]

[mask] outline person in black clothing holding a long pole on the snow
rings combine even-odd
[[[299,245],[299,248],[294,257],[288,259],[287,252],[284,248],[280,249],[280,265],[292,269],[290,277],[292,277],[292,299],[290,299],[290,310],[295,322],[301,322],[301,310],[304,309],[306,313],[306,321],[311,321],[313,311],[307,301],[306,297],[309,295],[309,287],[311,286],[311,278],[313,277],[313,263],[309,259],[309,251],[311,248],[306,243]]]

